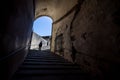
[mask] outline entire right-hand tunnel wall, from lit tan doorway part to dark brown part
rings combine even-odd
[[[120,67],[119,3],[83,0],[75,12],[53,24],[51,51],[79,64],[93,76],[118,76],[115,73]]]

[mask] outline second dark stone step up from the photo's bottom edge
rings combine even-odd
[[[19,75],[80,75],[83,74],[81,70],[74,70],[74,69],[21,69],[16,74]]]

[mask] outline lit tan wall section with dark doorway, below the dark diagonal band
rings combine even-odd
[[[52,32],[52,49],[55,50],[55,53],[63,56],[65,59],[72,61],[71,59],[71,40],[70,40],[70,25],[74,16],[74,12],[70,13],[67,17],[62,19],[61,21],[53,24],[53,32]],[[62,38],[60,38],[62,37]],[[61,41],[61,43],[57,43],[57,40]],[[62,48],[59,49],[58,46]]]

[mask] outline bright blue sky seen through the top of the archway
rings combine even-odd
[[[52,30],[52,19],[47,16],[42,16],[37,18],[33,24],[33,32],[39,34],[40,36],[51,35]]]

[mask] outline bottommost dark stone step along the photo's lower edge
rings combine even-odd
[[[85,75],[17,75],[13,80],[93,80]]]

